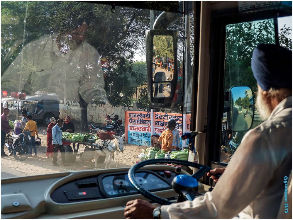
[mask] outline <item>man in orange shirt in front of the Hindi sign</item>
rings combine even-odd
[[[162,141],[162,150],[167,152],[175,149],[180,150],[179,147],[172,146],[174,136],[172,131],[175,129],[175,120],[168,122],[167,128],[168,130],[165,130],[159,137],[159,141]]]

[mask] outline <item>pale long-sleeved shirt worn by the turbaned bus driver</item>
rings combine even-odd
[[[163,205],[163,219],[275,219],[292,170],[292,96],[247,132],[214,190]],[[292,204],[289,204],[290,206]]]

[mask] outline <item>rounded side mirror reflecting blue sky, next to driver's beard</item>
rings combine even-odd
[[[232,131],[247,131],[254,117],[253,92],[248,86],[233,86],[229,90],[230,110],[227,112],[228,127]]]

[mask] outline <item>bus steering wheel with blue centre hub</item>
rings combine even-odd
[[[183,161],[178,159],[151,159],[146,161],[141,161],[137,163],[136,165],[132,166],[130,170],[128,171],[128,178],[131,182],[131,184],[135,187],[135,189],[140,192],[144,197],[150,199],[153,202],[159,203],[161,205],[170,205],[173,202],[170,202],[167,199],[164,199],[162,197],[159,197],[153,193],[151,193],[148,190],[143,189],[135,179],[135,173],[139,168],[142,168],[143,166],[149,165],[149,164],[155,164],[155,163],[175,163],[178,165],[184,165],[184,166],[191,166],[198,168],[199,170],[194,173],[193,175],[185,175],[185,174],[179,174],[174,177],[172,181],[172,188],[177,192],[179,195],[184,196],[186,200],[192,201],[195,198],[195,194],[197,193],[197,187],[198,187],[198,181],[199,179],[206,173],[209,172],[212,168],[208,166],[204,166],[198,163],[192,163],[189,161]],[[220,177],[220,174],[214,174],[217,177]]]

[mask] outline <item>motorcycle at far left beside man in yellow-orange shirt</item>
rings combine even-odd
[[[29,142],[31,141],[31,132],[25,131],[21,134],[14,134],[13,139],[8,145],[5,143],[5,146],[8,148],[9,156],[12,156],[19,161],[24,161],[31,154],[31,148]]]

